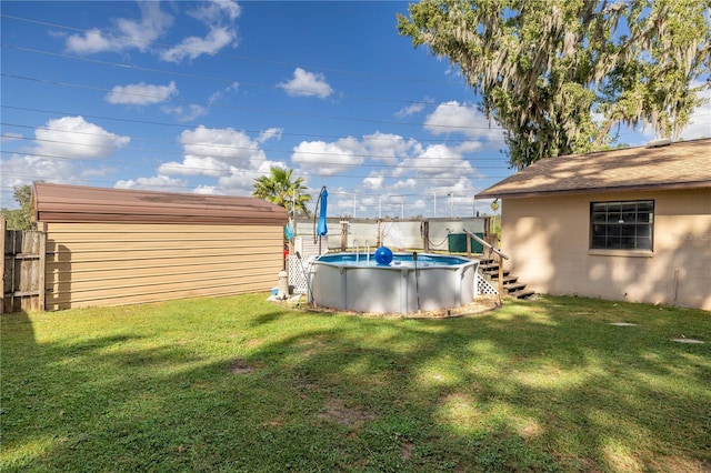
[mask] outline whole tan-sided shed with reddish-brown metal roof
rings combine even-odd
[[[251,197],[38,182],[32,213],[47,310],[268,291],[283,268],[286,210]]]

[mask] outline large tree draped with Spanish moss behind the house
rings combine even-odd
[[[711,0],[422,0],[400,34],[447,58],[504,129],[510,164],[677,140],[709,88]]]

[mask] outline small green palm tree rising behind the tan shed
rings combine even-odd
[[[287,210],[296,208],[296,213],[309,217],[307,203],[311,202],[311,195],[302,193],[307,190],[303,178],[291,181],[293,169],[283,169],[272,165],[270,175],[254,179],[254,192],[252,195],[264,199],[268,202],[281,205]]]

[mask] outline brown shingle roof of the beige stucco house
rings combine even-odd
[[[548,158],[477,198],[711,188],[711,139]]]

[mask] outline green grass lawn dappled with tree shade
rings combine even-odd
[[[3,472],[711,470],[709,312],[384,319],[253,294],[0,320]]]

